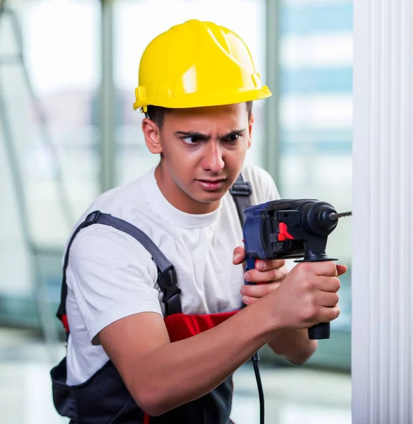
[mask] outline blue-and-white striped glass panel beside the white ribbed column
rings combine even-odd
[[[351,1],[281,1],[280,189],[337,211],[351,211],[352,48]],[[350,331],[350,234],[342,218],[327,245],[349,266],[332,330]]]

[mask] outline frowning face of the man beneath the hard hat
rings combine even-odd
[[[164,195],[183,211],[214,210],[243,167],[251,130],[245,103],[165,114],[156,152],[163,157]]]

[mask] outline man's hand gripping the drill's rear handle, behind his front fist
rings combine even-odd
[[[238,246],[234,249],[233,264],[239,265],[245,261],[244,247]],[[245,305],[250,305],[259,298],[263,298],[276,290],[281,281],[286,278],[289,270],[284,259],[255,262],[255,269],[244,273],[244,279],[256,285],[243,285],[240,293],[243,295]]]

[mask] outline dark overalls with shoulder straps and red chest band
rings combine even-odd
[[[237,207],[240,222],[244,222],[243,210],[250,204],[251,185],[244,182],[240,175],[230,189]],[[69,325],[66,317],[66,267],[69,261],[69,249],[74,237],[82,228],[95,223],[110,225],[138,240],[150,253],[158,268],[158,285],[163,292],[165,305],[165,326],[170,341],[178,341],[221,324],[238,311],[219,314],[192,315],[182,314],[180,293],[175,269],[170,261],[156,247],[152,240],[139,228],[124,220],[100,211],[90,213],[78,225],[69,240],[63,267],[61,302],[57,317],[62,321],[69,337]],[[178,406],[161,416],[149,417],[136,404],[124,385],[115,365],[108,360],[100,370],[82,384],[66,384],[66,357],[55,366],[52,377],[54,406],[62,416],[71,419],[71,424],[229,424],[233,396],[232,376],[228,377],[216,389],[199,399]]]

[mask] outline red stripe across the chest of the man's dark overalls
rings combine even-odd
[[[170,342],[173,343],[212,329],[226,319],[233,317],[237,312],[238,310],[209,315],[172,314],[165,317],[164,322]],[[145,414],[144,424],[149,424],[149,419],[149,415]]]

